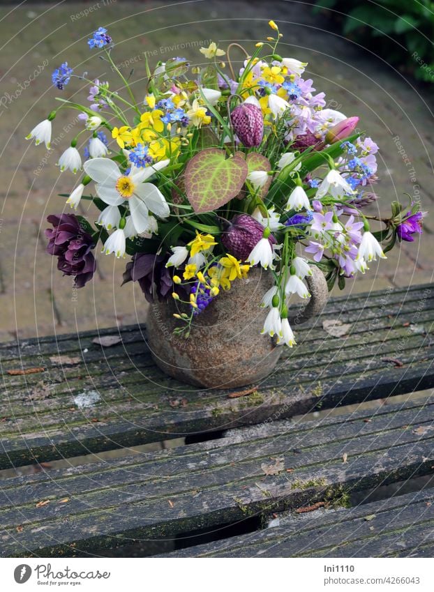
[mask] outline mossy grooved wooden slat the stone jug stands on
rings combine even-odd
[[[80,334],[80,340],[63,335],[28,340],[19,349],[3,347],[0,468],[429,388],[434,384],[429,335],[434,298],[429,296],[427,287],[418,287],[371,294],[365,308],[360,296],[331,301],[317,326],[298,329],[298,347],[285,353],[273,376],[239,399],[165,377],[151,362],[143,327],[119,330],[122,343],[110,348],[92,344],[95,332]],[[337,310],[350,324],[345,338],[331,337],[322,328],[322,320],[335,319]],[[417,325],[416,332],[410,323]],[[387,361],[396,358],[403,367]],[[21,365],[47,370],[6,374]],[[82,407],[89,392],[98,400]]]

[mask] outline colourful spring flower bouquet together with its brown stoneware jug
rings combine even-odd
[[[202,66],[175,57],[151,70],[146,62],[140,98],[100,28],[89,46],[121,77],[123,92],[79,75],[89,82],[89,103],[59,98],[28,136],[49,149],[59,109],[80,111],[83,129],[58,164],[84,169],[66,204],[77,210],[91,200],[95,213],[50,215],[47,250],[77,287],[93,276],[99,242],[106,255],[128,255],[124,283],[139,282],[152,303],[157,363],[193,384],[264,376],[278,346],[296,343],[292,294],[312,294],[293,319],[301,322],[322,308],[336,281],[343,288],[345,278],[386,258],[396,239],[421,232],[417,204],[394,202],[389,218],[364,214],[377,199],[377,144],[357,129],[358,117],[326,108],[324,93],[304,76],[307,64],[280,56],[281,34],[274,21],[269,26],[272,36],[252,55],[236,43],[225,51],[211,43],[200,49]],[[239,72],[234,50],[245,54]],[[73,77],[68,63],[52,76],[60,90]]]

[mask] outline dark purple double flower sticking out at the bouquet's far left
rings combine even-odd
[[[47,221],[54,227],[45,230],[47,252],[59,258],[57,268],[63,275],[75,276],[75,287],[82,288],[96,270],[92,236],[82,229],[74,214],[49,215]]]

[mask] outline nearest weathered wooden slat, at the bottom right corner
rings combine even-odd
[[[434,543],[434,489],[356,508],[320,509],[300,515],[282,513],[278,519],[278,526],[189,547],[167,556],[426,556],[426,547],[432,549]]]

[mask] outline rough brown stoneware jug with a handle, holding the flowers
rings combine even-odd
[[[312,267],[306,278],[312,295],[290,324],[310,319],[324,308],[328,290],[324,275]],[[268,308],[260,308],[262,296],[274,285],[271,273],[253,268],[246,280],[232,283],[209,306],[197,314],[190,337],[173,335],[179,312],[172,298],[151,304],[147,319],[147,341],[158,367],[180,381],[206,388],[234,388],[253,384],[276,365],[283,347],[261,335]]]

